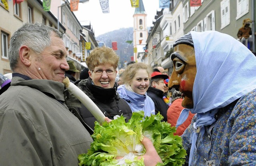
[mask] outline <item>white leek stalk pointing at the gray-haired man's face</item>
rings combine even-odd
[[[84,104],[84,106],[92,113],[100,124],[105,121],[106,117],[99,107],[82,90],[70,82],[68,77],[63,80],[63,84],[65,84],[65,87],[71,94],[73,94],[82,104]]]

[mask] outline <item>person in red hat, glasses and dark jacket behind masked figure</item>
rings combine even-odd
[[[152,72],[150,87],[147,90],[147,95],[153,100],[155,104],[156,113],[160,112],[160,114],[164,117],[164,121],[167,121],[167,109],[168,105],[164,102],[164,80],[169,78],[168,75],[162,74],[160,72]]]

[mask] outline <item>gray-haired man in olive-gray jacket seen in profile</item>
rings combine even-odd
[[[76,166],[92,138],[68,109],[62,34],[26,23],[10,40],[13,77],[0,96],[0,165]]]

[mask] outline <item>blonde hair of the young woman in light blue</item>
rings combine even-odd
[[[122,78],[123,78],[124,84],[129,84],[139,69],[145,69],[148,73],[148,78],[151,77],[151,73],[152,73],[151,66],[149,66],[148,64],[145,64],[143,62],[133,63],[133,64],[128,65],[126,67],[126,69],[124,70],[124,72],[122,73]]]

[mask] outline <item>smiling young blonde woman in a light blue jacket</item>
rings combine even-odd
[[[133,63],[126,67],[122,73],[123,85],[118,86],[117,92],[132,112],[144,111],[145,116],[155,115],[153,100],[147,96],[152,68],[145,63]]]

